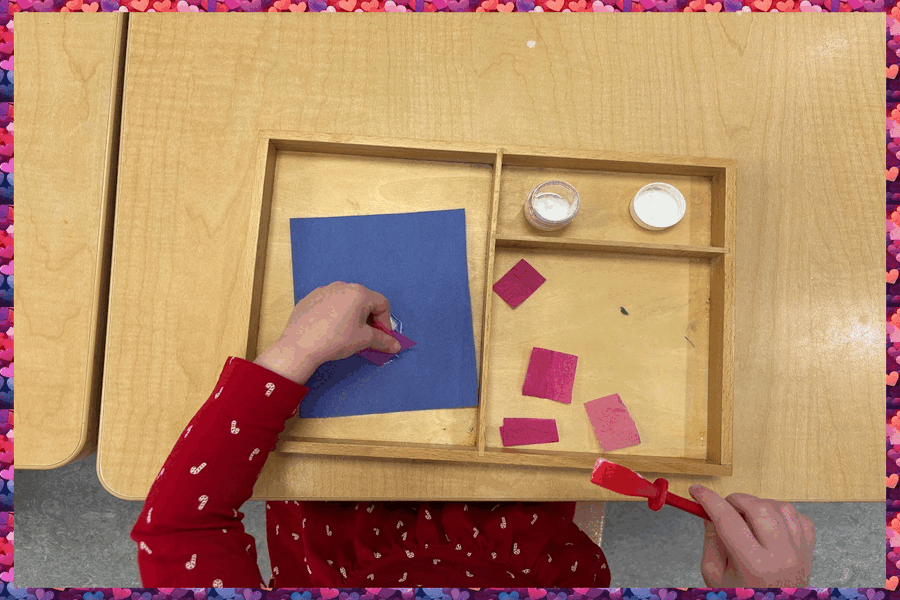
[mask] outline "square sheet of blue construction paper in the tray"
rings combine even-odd
[[[384,366],[323,364],[299,415],[342,417],[478,405],[465,210],[291,219],[294,302],[333,281],[383,294],[418,344]]]

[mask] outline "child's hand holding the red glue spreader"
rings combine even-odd
[[[816,528],[793,505],[702,486],[691,495],[706,523],[700,572],[709,587],[796,587],[809,583]]]

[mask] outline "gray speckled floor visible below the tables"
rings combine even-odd
[[[873,503],[798,503],[816,523],[812,587],[874,587],[885,581],[885,508]],[[128,533],[140,502],[111,496],[96,461],[51,471],[16,471],[15,585],[141,587]],[[262,502],[248,502],[244,526],[256,538],[268,580]],[[702,587],[700,519],[670,507],[607,503],[603,551],[613,587]]]

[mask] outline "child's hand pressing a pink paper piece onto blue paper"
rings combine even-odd
[[[358,283],[316,288],[294,307],[281,339],[254,362],[303,383],[323,362],[366,348],[399,352],[400,342],[367,324],[371,315],[390,330],[390,314],[387,298]]]

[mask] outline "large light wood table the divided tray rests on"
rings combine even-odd
[[[881,501],[883,17],[617,16],[130,15],[106,488],[144,498],[252,353],[257,139],[284,130],[736,158],[734,475],[709,483]],[[471,290],[484,268],[470,255]],[[273,453],[254,498],[621,497],[585,471]]]

